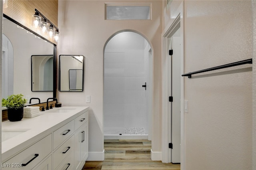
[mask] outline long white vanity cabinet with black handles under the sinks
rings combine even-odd
[[[62,118],[41,133],[36,134],[36,130],[33,129],[31,133],[37,140],[32,138],[26,140],[28,143],[31,142],[31,144],[27,144],[26,148],[16,147],[16,150],[19,151],[14,152],[16,154],[12,154],[13,156],[8,159],[6,158],[8,152],[2,154],[2,156],[6,156],[2,163],[2,170],[82,170],[88,157],[88,107],[81,107],[78,112],[70,113],[70,115],[56,114],[54,117],[54,113],[48,113],[45,117],[37,119],[42,122],[51,117],[58,120],[61,116],[66,116],[66,118]],[[36,121],[37,119],[27,120]],[[39,121],[34,122],[33,127],[38,127],[41,130]],[[26,124],[24,121],[23,126]],[[11,151],[13,152],[13,150]]]

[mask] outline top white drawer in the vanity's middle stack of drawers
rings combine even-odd
[[[63,127],[58,128],[53,132],[53,149],[59,146],[72,133],[74,133],[74,120],[70,121]]]

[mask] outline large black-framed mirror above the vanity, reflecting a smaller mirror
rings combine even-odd
[[[26,99],[40,98],[42,103],[56,97],[56,45],[5,14],[2,36],[2,98],[21,93]],[[33,73],[36,64],[41,65]]]

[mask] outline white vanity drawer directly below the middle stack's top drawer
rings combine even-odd
[[[53,153],[53,169],[55,170],[60,162],[74,150],[74,135],[72,135],[64,144]]]

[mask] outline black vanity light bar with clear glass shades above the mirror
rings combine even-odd
[[[48,33],[48,37],[51,40],[58,42],[60,34],[59,29],[54,26],[54,24],[52,24],[52,22],[50,22],[50,20],[48,20],[41,12],[39,12],[37,9],[35,9],[35,11],[35,14],[32,16],[32,26],[34,28],[38,28],[38,26],[40,26],[43,34]]]

